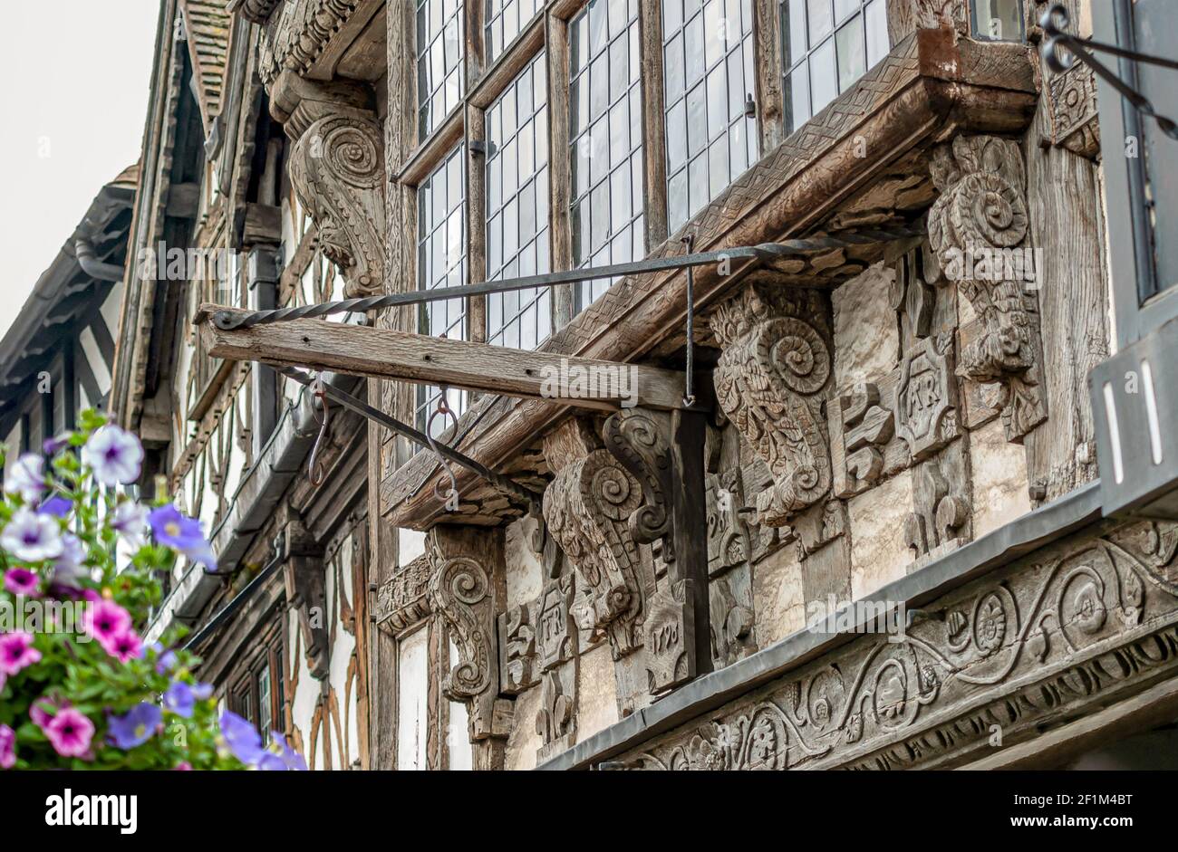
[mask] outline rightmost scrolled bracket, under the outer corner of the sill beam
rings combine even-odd
[[[1047,418],[1038,301],[1007,274],[1024,268],[1030,233],[1023,154],[1006,139],[955,137],[933,151],[931,169],[941,194],[928,213],[928,241],[980,324],[968,342],[962,332],[958,374],[998,382],[1006,438],[1021,442]]]

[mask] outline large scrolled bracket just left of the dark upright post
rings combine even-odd
[[[588,620],[608,633],[618,659],[642,645],[647,578],[654,573],[649,552],[630,532],[642,486],[581,419],[545,438],[544,455],[556,471],[544,491],[544,520],[590,592]]]

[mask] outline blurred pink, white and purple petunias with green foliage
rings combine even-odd
[[[0,770],[305,770],[282,734],[264,747],[218,713],[183,626],[144,644],[163,572],[216,558],[199,521],[121,487],[139,479],[138,438],[80,420],[5,465]]]

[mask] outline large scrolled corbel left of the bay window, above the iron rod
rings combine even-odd
[[[291,184],[319,245],[342,271],[349,298],[384,288],[384,141],[371,92],[284,72],[271,113],[293,140]]]

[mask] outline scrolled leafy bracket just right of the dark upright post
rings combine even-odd
[[[785,526],[830,490],[822,401],[830,378],[827,306],[815,291],[754,279],[710,318],[723,347],[716,398],[774,485],[756,497],[759,521]]]

